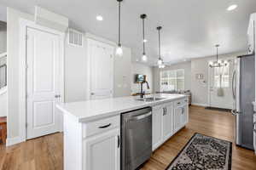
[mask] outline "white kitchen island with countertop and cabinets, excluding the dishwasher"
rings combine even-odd
[[[188,97],[154,94],[57,105],[64,114],[64,169],[119,170],[120,115],[152,107],[152,150],[189,121]]]

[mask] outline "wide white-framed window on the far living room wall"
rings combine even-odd
[[[184,90],[184,70],[161,71],[160,91]]]

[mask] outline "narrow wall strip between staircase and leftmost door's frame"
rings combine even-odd
[[[7,51],[8,51],[8,116],[7,138],[19,137],[19,28],[20,18],[33,20],[30,14],[21,13],[13,8],[8,8],[7,13]]]

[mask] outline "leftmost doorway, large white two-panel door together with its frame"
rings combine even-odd
[[[55,105],[63,102],[63,45],[64,33],[27,20],[20,22],[21,97],[23,138],[34,139],[60,132],[62,116]],[[21,67],[22,68],[22,67]],[[25,99],[24,99],[25,98]],[[22,117],[23,117],[22,116]],[[22,121],[22,120],[21,120]],[[21,122],[22,123],[22,122]]]

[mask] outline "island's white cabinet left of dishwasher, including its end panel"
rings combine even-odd
[[[64,170],[71,169],[120,169],[120,116],[77,122],[64,115]]]

